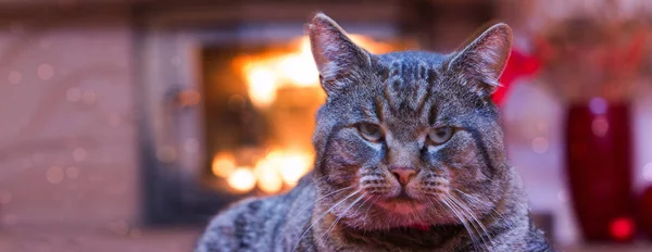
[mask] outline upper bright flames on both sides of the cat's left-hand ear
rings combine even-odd
[[[373,53],[391,50],[388,43],[374,41],[361,35],[351,39]],[[294,42],[296,49],[276,55],[250,56],[242,66],[249,98],[258,108],[266,108],[276,99],[276,90],[285,87],[317,87],[318,72],[312,59],[310,40],[303,37]]]

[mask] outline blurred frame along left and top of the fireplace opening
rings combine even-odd
[[[297,37],[315,10],[333,13],[351,33],[380,39],[403,35],[399,34],[402,8],[396,1],[271,4],[142,4],[134,9],[143,225],[203,225],[217,209],[240,199],[216,196],[201,185],[206,154],[201,148],[201,100],[179,104],[179,93],[201,90],[202,47]],[[269,8],[283,8],[284,13],[269,12]]]

